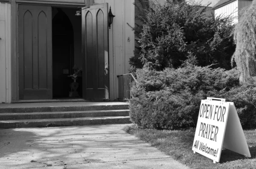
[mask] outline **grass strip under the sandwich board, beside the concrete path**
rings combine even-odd
[[[157,147],[191,169],[256,169],[256,130],[244,131],[251,158],[245,158],[244,155],[225,149],[221,152],[219,163],[213,163],[211,159],[193,153],[195,129],[169,131],[139,129],[130,125],[124,130]]]

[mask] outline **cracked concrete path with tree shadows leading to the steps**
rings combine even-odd
[[[188,169],[127,124],[0,129],[1,169]]]

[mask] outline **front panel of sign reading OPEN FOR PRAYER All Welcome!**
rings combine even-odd
[[[192,150],[219,161],[229,105],[221,101],[201,101]]]

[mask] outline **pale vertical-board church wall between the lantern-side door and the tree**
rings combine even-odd
[[[94,2],[108,3],[113,15],[116,15],[109,29],[110,99],[115,100],[118,97],[116,76],[129,72],[129,58],[134,51],[134,31],[131,28],[134,28],[134,0],[94,0]]]

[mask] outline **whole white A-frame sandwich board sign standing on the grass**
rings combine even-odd
[[[192,150],[215,163],[222,147],[251,157],[234,103],[207,97],[201,100]]]

